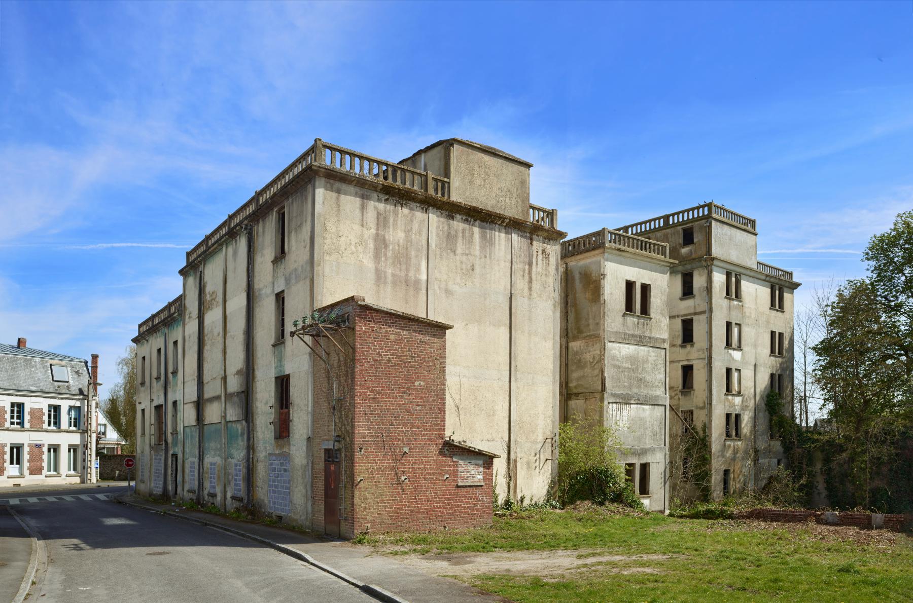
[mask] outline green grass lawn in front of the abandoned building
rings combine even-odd
[[[487,528],[359,542],[419,566],[467,554],[459,564],[472,559],[477,573],[464,568],[458,579],[515,601],[913,600],[913,538],[885,530],[537,509]],[[505,554],[477,555],[557,549],[582,549],[579,563],[488,573],[486,559]],[[615,557],[587,563],[599,556]]]

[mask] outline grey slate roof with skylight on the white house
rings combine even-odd
[[[51,364],[65,365],[69,381],[51,379]],[[0,343],[0,390],[85,396],[88,386],[89,363],[84,359]]]

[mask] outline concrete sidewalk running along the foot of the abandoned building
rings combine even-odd
[[[394,557],[374,554],[366,546],[329,540],[318,535],[293,532],[271,525],[236,521],[222,515],[185,509],[176,504],[152,503],[132,494],[117,497],[118,502],[150,510],[186,517],[192,521],[244,532],[258,541],[268,541],[299,551],[325,566],[326,570],[352,577],[356,582],[381,587],[395,596],[422,603],[452,603],[461,601],[505,601],[506,599],[470,587],[450,578],[425,574],[406,567]]]

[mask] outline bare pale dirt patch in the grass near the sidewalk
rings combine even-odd
[[[656,573],[656,567],[642,562],[668,559],[669,555],[607,555],[599,549],[559,551],[496,551],[493,553],[442,553],[402,555],[396,560],[433,576],[477,576],[509,574],[561,578],[597,568],[620,574]],[[636,564],[634,567],[632,563]]]

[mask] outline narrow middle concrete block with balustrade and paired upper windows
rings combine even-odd
[[[561,244],[561,421],[612,429],[635,493],[662,513],[669,478],[666,300],[675,264],[665,244],[608,229]]]

